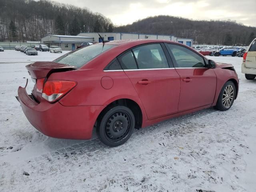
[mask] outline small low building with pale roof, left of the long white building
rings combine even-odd
[[[62,50],[75,50],[77,46],[81,46],[83,42],[93,42],[93,38],[84,35],[47,35],[41,40],[41,44],[60,46]]]

